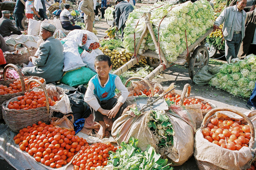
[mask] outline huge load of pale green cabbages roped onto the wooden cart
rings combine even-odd
[[[171,8],[172,10],[170,10]],[[209,2],[205,0],[195,3],[188,1],[178,5],[158,2],[153,6],[143,6],[135,9],[130,13],[125,22],[126,27],[123,38],[126,50],[131,53],[134,52],[134,33],[136,33],[135,43],[137,44],[145,26],[145,19],[142,17],[144,12],[151,12],[151,25],[157,39],[159,23],[167,15],[159,28],[159,42],[166,59],[170,62],[176,61],[179,54],[183,53],[186,49],[185,30],[187,45],[189,46],[205,34],[207,29],[213,26],[215,20],[214,10]],[[135,29],[136,25],[137,28]],[[148,49],[159,54],[149,32],[144,37],[138,54],[142,54]]]

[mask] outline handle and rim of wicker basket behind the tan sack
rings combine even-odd
[[[212,109],[216,108],[216,105],[211,103],[211,102],[208,102],[207,100],[205,100],[204,98],[200,97],[200,96],[193,96],[193,97],[190,97],[190,91],[191,91],[191,86],[190,84],[185,84],[184,88],[183,88],[183,91],[181,93],[181,96],[180,96],[180,102],[179,102],[179,105],[183,105],[183,102],[184,102],[184,99],[185,99],[185,96],[187,97],[187,99],[190,99],[190,98],[195,98],[195,99],[199,99],[200,102],[202,102],[203,104],[206,104],[208,103]],[[208,110],[202,110],[202,114],[205,115],[206,113],[208,112]]]

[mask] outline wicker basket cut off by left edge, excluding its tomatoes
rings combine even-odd
[[[4,94],[4,95],[0,95],[0,106],[7,100],[10,100],[18,95],[24,95],[25,93],[25,82],[24,82],[24,77],[22,75],[22,72],[20,72],[20,70],[18,69],[18,67],[16,65],[13,64],[8,64],[5,66],[4,69],[4,81],[1,81],[0,84],[4,85],[4,86],[8,86],[10,83],[13,83],[15,81],[17,81],[18,79],[12,79],[12,80],[6,80],[6,71],[9,67],[13,67],[15,69],[15,71],[17,71],[19,78],[20,78],[20,83],[22,84],[22,92],[17,92],[17,93],[13,93],[13,94]],[[0,110],[0,119],[3,119],[3,114],[2,114],[2,109]]]

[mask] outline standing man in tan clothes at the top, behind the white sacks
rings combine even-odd
[[[81,11],[84,13],[84,24],[86,25],[86,30],[93,32],[93,0],[83,0]]]

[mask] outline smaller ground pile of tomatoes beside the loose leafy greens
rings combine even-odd
[[[75,156],[72,164],[75,170],[104,167],[108,163],[109,151],[116,152],[117,148],[111,143],[95,143],[91,146],[81,147],[81,151]]]

